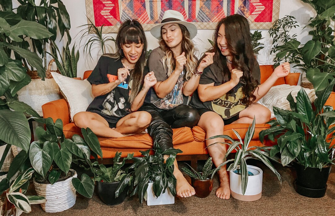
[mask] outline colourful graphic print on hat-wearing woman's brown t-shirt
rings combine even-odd
[[[156,100],[153,104],[159,109],[171,110],[176,106],[183,104],[183,83],[184,83],[184,71],[179,75],[178,81],[172,91],[165,97]]]

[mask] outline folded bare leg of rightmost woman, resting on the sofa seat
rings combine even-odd
[[[270,121],[271,112],[270,110],[259,104],[259,103],[252,103],[246,109],[240,112],[240,118],[233,122],[235,123],[242,123],[242,124],[251,124],[256,118],[256,124],[265,124]]]

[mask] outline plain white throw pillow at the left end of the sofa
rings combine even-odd
[[[86,111],[88,105],[94,99],[91,83],[86,79],[73,79],[55,72],[51,72],[51,75],[54,77],[65,99],[69,103],[70,116],[73,121],[73,116],[76,113]]]

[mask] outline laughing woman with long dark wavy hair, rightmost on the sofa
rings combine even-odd
[[[290,67],[285,62],[260,84],[260,68],[251,44],[248,20],[238,14],[221,19],[214,33],[214,62],[206,67],[190,105],[200,115],[198,126],[206,131],[206,138],[223,134],[223,127],[231,123],[256,124],[270,120],[270,110],[256,103],[279,77],[287,76]],[[224,139],[206,140],[209,146]],[[227,151],[225,144],[207,148],[215,166],[222,163]],[[216,196],[229,199],[230,189],[226,167],[218,171],[220,186]]]

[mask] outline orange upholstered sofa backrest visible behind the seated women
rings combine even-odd
[[[273,65],[260,65],[261,69],[261,83],[263,83],[273,72]],[[83,79],[87,79],[92,73],[92,70],[86,70],[84,72]],[[288,76],[281,77],[273,85],[289,84],[297,85],[299,80],[299,73],[290,73]]]

